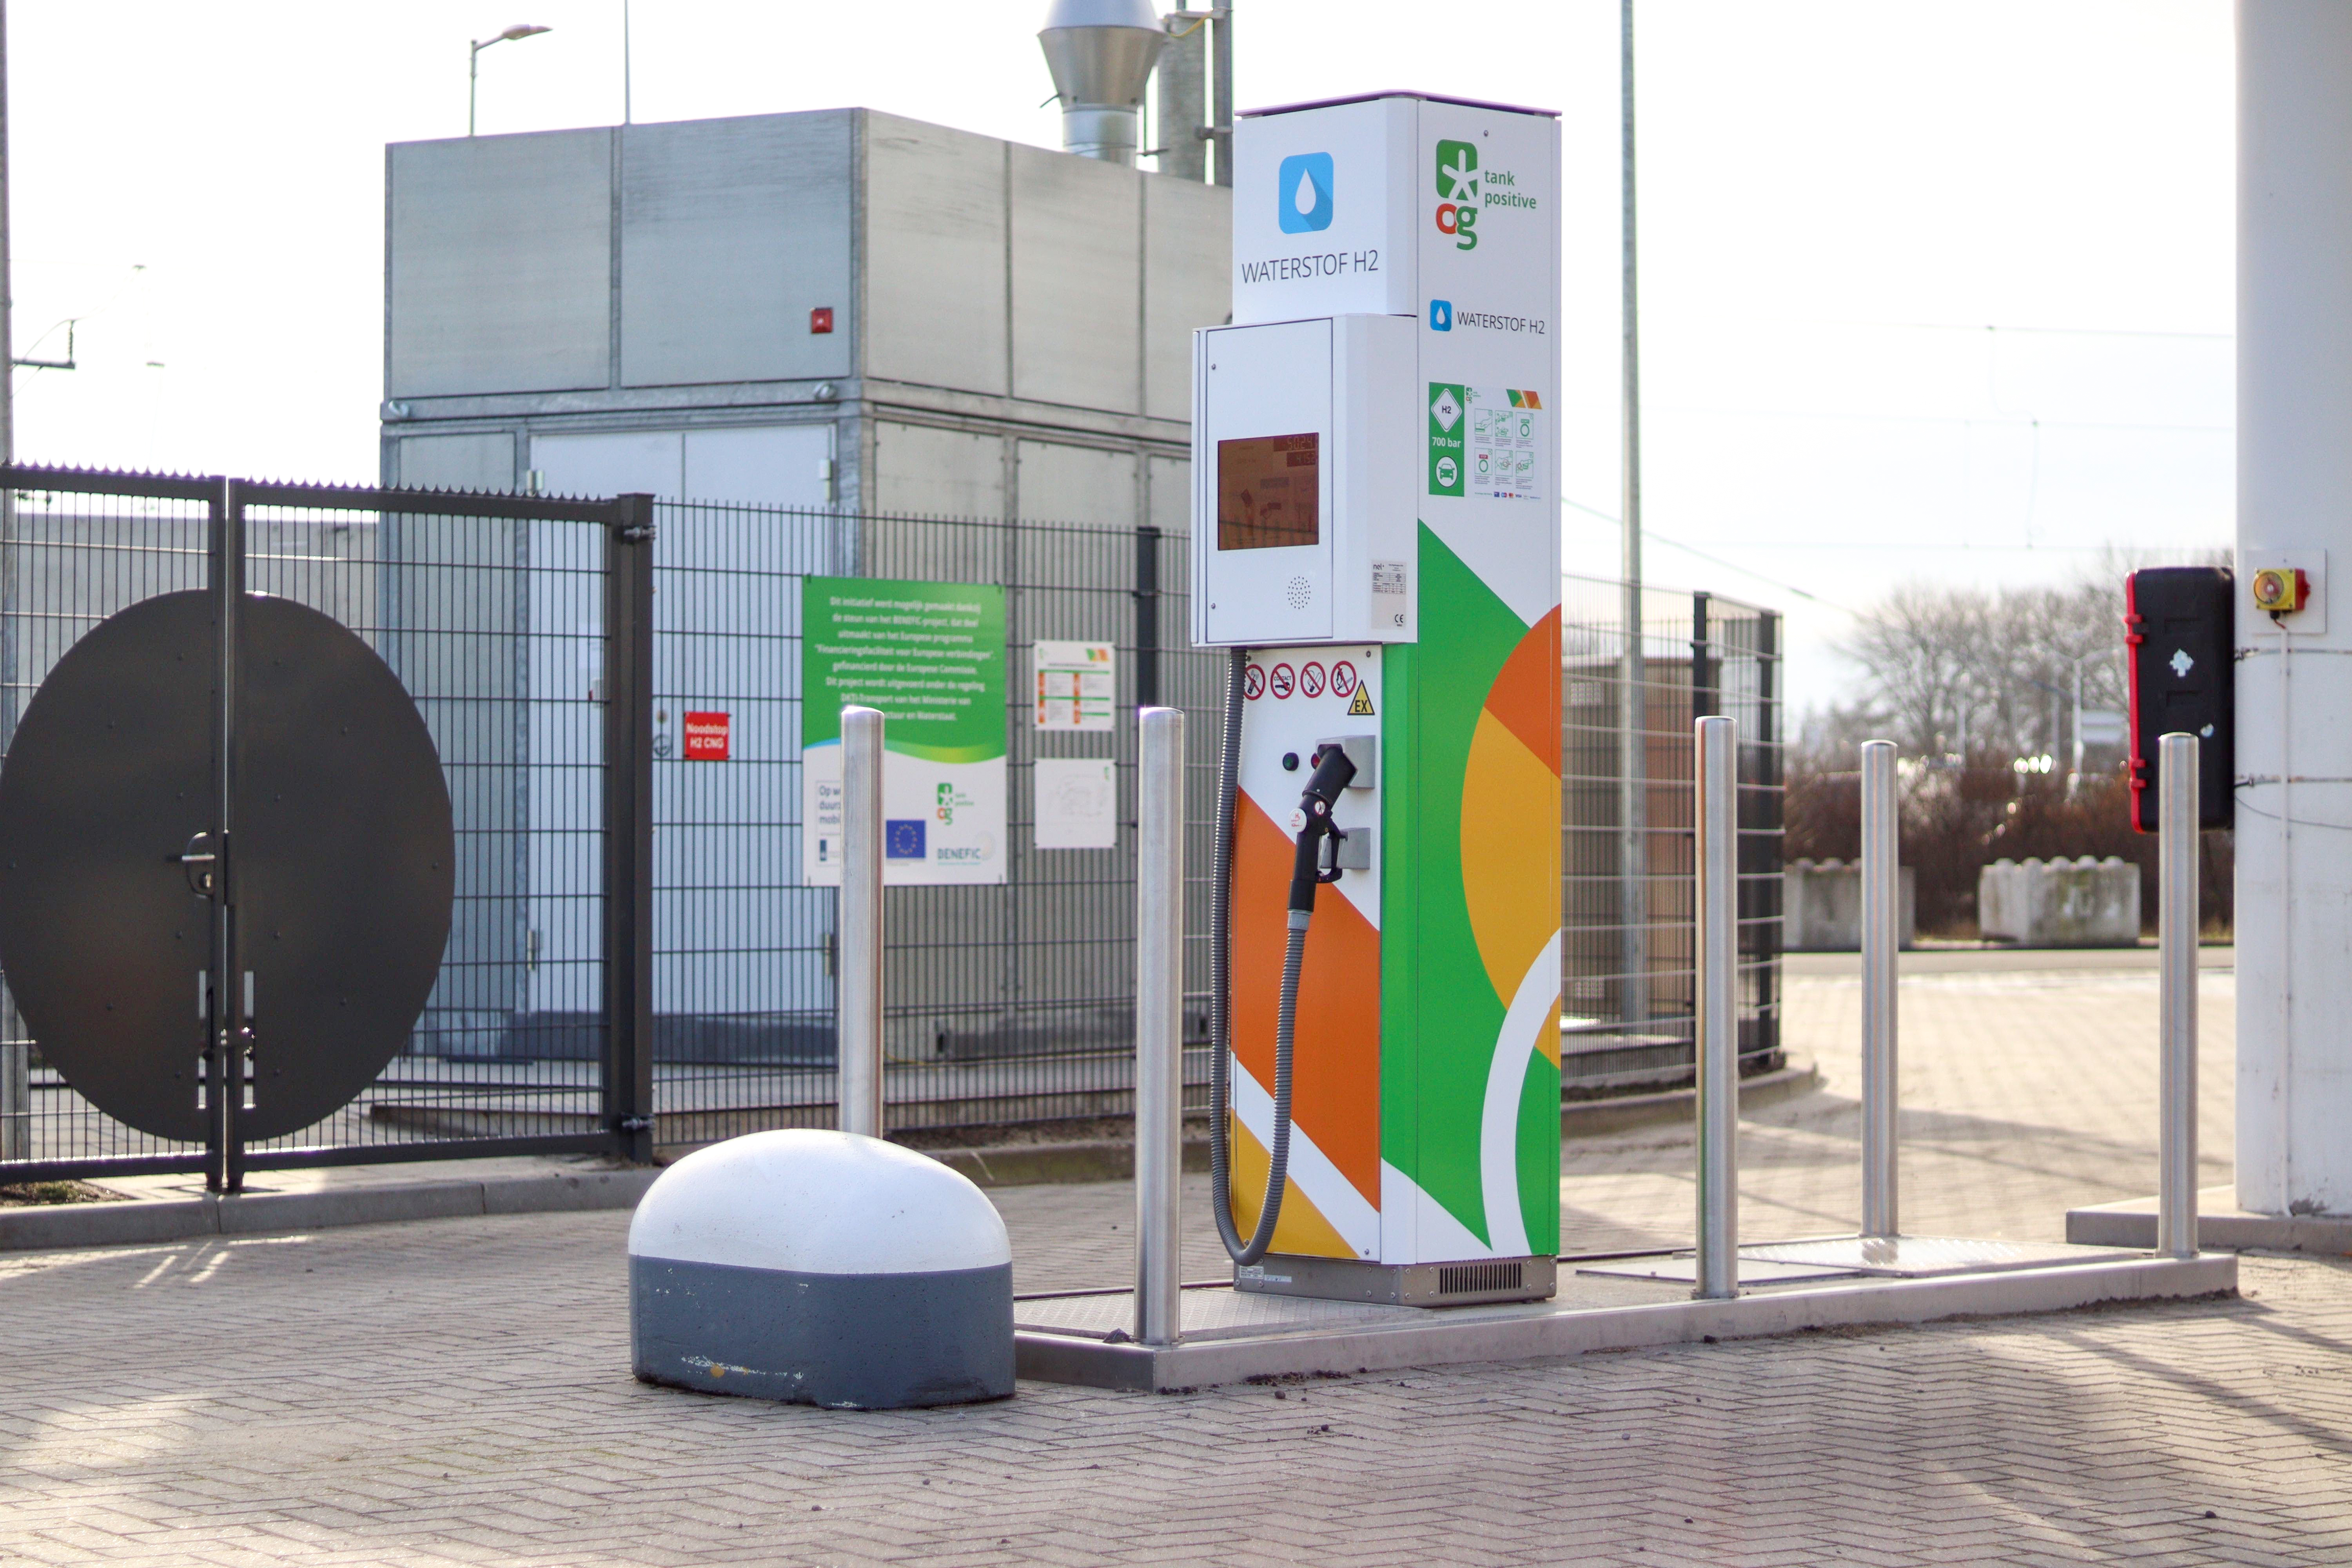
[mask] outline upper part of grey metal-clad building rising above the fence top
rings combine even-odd
[[[383,480],[1181,531],[1230,228],[866,108],[400,143]]]

